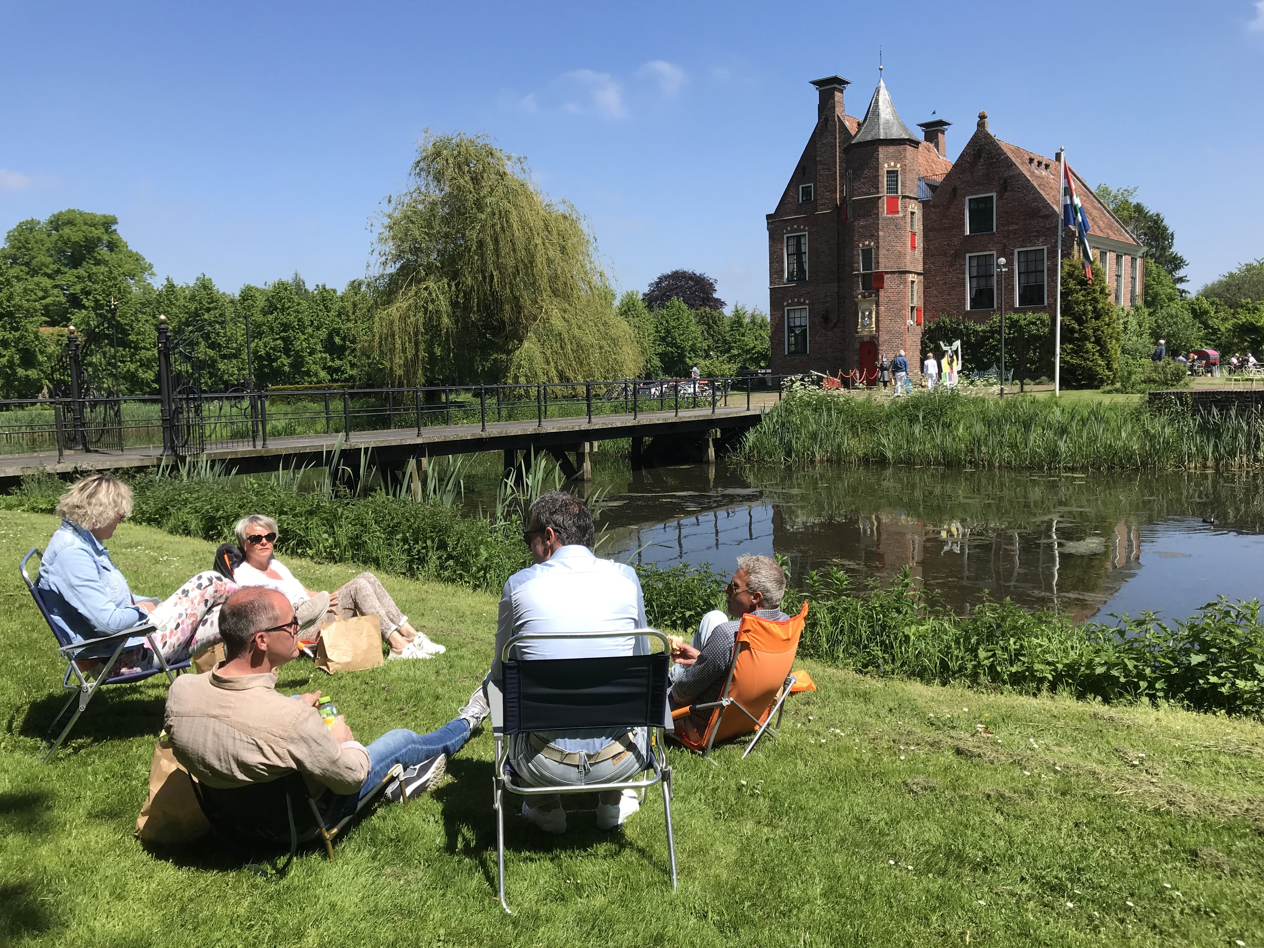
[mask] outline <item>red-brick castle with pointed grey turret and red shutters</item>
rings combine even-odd
[[[1001,142],[987,114],[956,162],[948,121],[900,119],[880,80],[863,119],[841,76],[815,80],[817,125],[767,215],[772,372],[872,372],[904,349],[920,369],[921,330],[942,316],[1053,316],[1062,166]],[[1060,155],[1059,155],[1060,158]],[[1088,243],[1115,302],[1141,298],[1141,246],[1076,176]],[[1066,229],[1063,258],[1077,254]],[[1006,260],[1007,273],[997,272]]]

